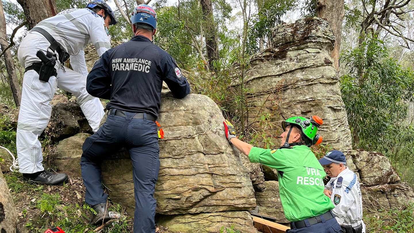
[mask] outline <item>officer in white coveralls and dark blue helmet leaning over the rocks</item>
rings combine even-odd
[[[66,174],[44,170],[38,140],[50,120],[50,102],[57,87],[75,95],[92,130],[98,130],[104,111],[100,100],[86,91],[83,48],[90,41],[99,56],[110,49],[108,26],[112,24],[116,24],[114,12],[103,0],[94,0],[86,8],[64,10],[44,19],[22,40],[17,56],[25,73],[16,145],[24,180],[51,185],[67,181]],[[69,57],[75,71],[63,68]]]

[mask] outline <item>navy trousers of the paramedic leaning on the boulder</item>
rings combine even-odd
[[[117,110],[119,111],[119,110]],[[86,187],[85,202],[90,205],[106,203],[107,194],[101,184],[102,160],[110,158],[125,147],[132,160],[135,192],[134,233],[155,233],[155,183],[159,172],[159,145],[154,121],[108,115],[106,122],[82,146],[82,178]],[[122,167],[120,167],[122,169]]]

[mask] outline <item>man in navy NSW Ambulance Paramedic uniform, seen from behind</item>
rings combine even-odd
[[[156,119],[162,82],[176,98],[190,93],[190,86],[174,59],[152,43],[156,13],[138,5],[131,17],[134,37],[106,51],[87,78],[88,92],[110,100],[108,118],[83,144],[82,177],[85,202],[96,211],[91,224],[110,219],[101,185],[101,162],[125,147],[133,167],[135,189],[134,233],[155,232],[155,182],[159,171]]]

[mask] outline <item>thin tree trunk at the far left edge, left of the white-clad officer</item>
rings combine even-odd
[[[0,47],[4,51],[9,45],[6,34],[6,19],[3,13],[3,3],[0,1]],[[10,49],[5,51],[4,60],[7,69],[7,75],[9,76],[9,84],[12,89],[14,103],[16,107],[20,106],[20,99],[22,98],[22,90],[20,90],[19,82],[17,81],[16,70],[14,69],[14,61]]]

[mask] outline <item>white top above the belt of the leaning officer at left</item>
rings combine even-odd
[[[99,57],[111,49],[111,37],[103,17],[87,8],[63,10],[42,20],[35,27],[41,27],[51,34],[60,47],[70,54],[73,70],[83,75],[88,74],[84,46],[92,42]]]

